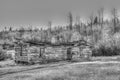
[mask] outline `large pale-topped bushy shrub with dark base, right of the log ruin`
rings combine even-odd
[[[120,54],[120,33],[100,40],[93,50],[93,56],[114,56]]]

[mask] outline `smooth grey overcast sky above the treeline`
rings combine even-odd
[[[119,9],[120,0],[0,0],[0,24],[66,24],[67,13],[89,16],[100,7]]]

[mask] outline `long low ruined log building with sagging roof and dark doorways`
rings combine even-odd
[[[77,54],[73,48],[78,48]],[[51,48],[51,52],[48,51]],[[55,51],[57,49],[57,51]],[[16,63],[46,63],[73,59],[74,55],[79,58],[90,58],[92,54],[91,45],[84,40],[53,44],[51,42],[35,42],[17,40],[15,42]]]

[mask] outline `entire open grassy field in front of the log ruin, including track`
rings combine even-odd
[[[119,57],[0,68],[0,80],[120,80]]]

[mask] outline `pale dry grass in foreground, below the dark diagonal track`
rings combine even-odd
[[[104,60],[117,58],[102,58]],[[120,62],[81,62],[40,68],[0,77],[0,80],[120,80]]]

